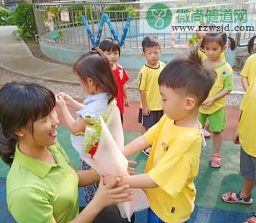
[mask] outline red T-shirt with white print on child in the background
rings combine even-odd
[[[116,69],[113,70],[113,74],[116,78],[116,84],[118,84],[118,95],[116,96],[116,105],[120,110],[120,114],[124,114],[124,84],[129,80],[129,77],[124,68],[121,65],[116,64]]]

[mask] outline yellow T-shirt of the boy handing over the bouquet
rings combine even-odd
[[[150,208],[164,222],[187,221],[195,207],[201,131],[178,127],[164,115],[144,137],[152,145],[145,172],[158,184],[146,189]]]

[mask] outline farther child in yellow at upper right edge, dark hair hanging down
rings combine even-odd
[[[248,52],[252,53],[254,48],[254,40],[256,36],[252,37],[248,43]],[[256,54],[252,54],[246,59],[243,70],[241,71],[241,82],[245,92],[248,90],[248,87],[251,86],[252,81],[256,77]]]

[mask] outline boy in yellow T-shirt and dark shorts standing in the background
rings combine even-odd
[[[161,95],[158,87],[158,77],[164,69],[164,62],[159,61],[161,56],[161,46],[155,36],[146,36],[142,41],[143,56],[147,63],[140,69],[138,77],[138,90],[140,90],[140,111],[138,113],[138,122],[141,123],[141,133],[158,123],[163,116],[163,106],[161,104]],[[143,152],[148,156],[149,149]]]

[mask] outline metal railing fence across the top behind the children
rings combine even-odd
[[[169,2],[169,1],[166,1]],[[223,3],[209,4],[209,0],[197,1],[198,9],[232,9],[240,4],[240,7],[246,6],[248,8],[249,22],[255,24],[255,3],[256,2],[243,2],[243,0],[237,0],[238,3],[234,4],[234,1],[227,0]],[[60,38],[55,39],[55,42],[63,43],[65,45],[76,46],[88,46],[91,47],[91,41],[85,29],[81,16],[85,15],[88,20],[89,27],[94,36],[97,36],[99,29],[100,17],[103,13],[106,13],[110,17],[110,21],[118,34],[122,36],[122,32],[127,21],[128,11],[131,9],[138,10],[137,14],[134,14],[127,37],[123,48],[141,48],[141,41],[144,36],[153,34],[158,36],[161,42],[162,48],[171,48],[171,34],[166,33],[144,33],[140,32],[140,2],[118,2],[103,0],[102,2],[91,1],[61,1],[61,2],[45,2],[42,4],[33,4],[36,26],[38,27],[38,35],[42,41],[53,42],[49,27],[45,26],[45,21],[48,21],[49,9],[54,9],[57,13],[53,17],[55,33],[59,34]],[[193,8],[193,1],[172,0],[172,10]],[[65,11],[68,15],[68,21],[61,21],[61,12]],[[239,46],[248,42],[248,39],[254,34],[237,33],[233,34]],[[230,35],[232,35],[230,33]],[[109,26],[104,23],[101,39],[112,36]],[[187,43],[191,34],[175,34],[175,40],[177,43]]]

